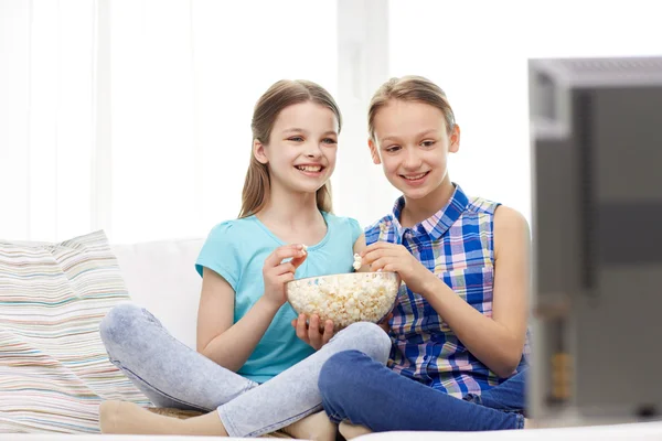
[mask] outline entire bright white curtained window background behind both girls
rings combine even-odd
[[[345,116],[339,214],[396,192],[365,147],[388,76],[446,89],[462,128],[451,178],[531,216],[528,57],[662,53],[654,0],[0,0],[0,238],[203,237],[235,217],[250,115],[280,78]],[[339,13],[340,11],[340,13]]]

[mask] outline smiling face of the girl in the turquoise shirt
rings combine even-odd
[[[314,193],[335,169],[338,130],[338,118],[328,107],[295,104],[278,114],[268,144],[254,142],[254,154],[268,165],[273,186]]]

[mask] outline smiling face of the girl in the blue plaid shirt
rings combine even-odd
[[[444,112],[435,106],[391,99],[374,116],[369,141],[375,164],[409,200],[423,200],[451,185],[448,153],[457,152],[460,131],[447,130]]]

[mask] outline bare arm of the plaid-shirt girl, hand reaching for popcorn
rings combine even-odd
[[[460,299],[410,254],[407,252],[410,259],[405,259],[402,251],[396,257],[387,257],[393,255],[394,252],[380,252],[380,256],[373,256],[370,261],[378,262],[381,259],[382,262],[377,266],[385,270],[397,270],[405,283],[414,292],[420,293],[444,318],[471,354],[500,377],[509,377],[520,363],[526,337],[530,235],[524,217],[503,206],[499,207],[494,215],[494,288],[491,318],[481,314]]]

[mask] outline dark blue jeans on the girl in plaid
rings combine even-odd
[[[349,420],[375,432],[479,431],[524,427],[523,370],[465,399],[394,373],[359,351],[333,355],[320,372],[322,404],[335,422]]]

